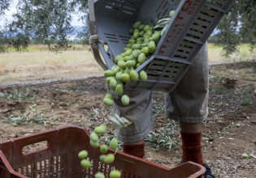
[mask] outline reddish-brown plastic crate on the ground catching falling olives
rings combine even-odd
[[[24,146],[37,142],[47,142],[40,150],[24,153]],[[80,150],[88,150],[92,167],[80,167],[77,155]],[[108,150],[114,153],[115,150]],[[206,171],[199,164],[187,162],[169,168],[145,159],[117,151],[115,161],[110,165],[99,161],[99,149],[89,144],[89,132],[79,127],[64,127],[16,138],[0,143],[0,178],[93,178],[97,172],[104,172],[106,177],[112,168],[119,169],[122,177],[165,178],[165,177],[202,177]]]

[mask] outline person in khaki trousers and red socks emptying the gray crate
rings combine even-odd
[[[202,121],[208,115],[209,66],[207,44],[193,59],[174,91],[165,94],[165,114],[167,118],[180,121],[182,158],[180,163],[193,161],[206,167],[206,178],[213,178],[210,167],[202,156]],[[124,106],[115,100],[115,112],[132,121],[132,125],[120,128],[119,141],[124,142],[123,150],[129,155],[143,158],[145,137],[154,127],[152,120],[153,91],[127,90],[130,104]]]

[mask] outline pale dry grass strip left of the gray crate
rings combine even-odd
[[[88,50],[3,53],[0,56],[0,82],[39,78],[68,78],[102,74]]]

